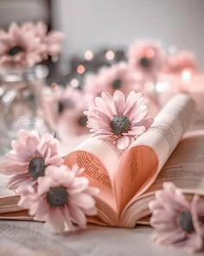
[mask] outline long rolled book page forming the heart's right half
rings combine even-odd
[[[143,194],[156,180],[188,128],[193,114],[192,98],[186,94],[175,95],[156,115],[147,132],[124,153],[114,181],[119,211],[124,209],[135,194]]]

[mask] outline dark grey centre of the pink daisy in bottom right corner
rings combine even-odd
[[[186,233],[194,232],[194,224],[192,220],[192,215],[189,211],[183,211],[178,214],[176,219],[177,225],[182,228]]]

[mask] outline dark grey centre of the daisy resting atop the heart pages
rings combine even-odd
[[[121,135],[128,132],[130,125],[130,119],[124,115],[115,115],[111,121],[112,131],[116,135]]]

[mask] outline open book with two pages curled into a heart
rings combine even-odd
[[[148,203],[163,181],[174,182],[189,195],[204,195],[204,132],[182,138],[193,115],[193,100],[175,95],[127,150],[119,150],[108,140],[88,138],[66,156],[69,167],[74,163],[84,167],[83,175],[100,188],[98,214],[90,222],[126,227],[145,224]],[[27,212],[16,206],[17,196],[5,197],[7,192],[0,185],[1,194],[0,218],[29,220]]]

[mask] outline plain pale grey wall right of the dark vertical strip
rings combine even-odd
[[[203,0],[58,0],[54,25],[67,36],[67,55],[137,38],[194,50],[204,66]]]

